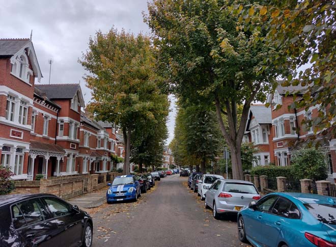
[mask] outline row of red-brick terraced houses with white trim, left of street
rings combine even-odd
[[[31,39],[0,39],[0,164],[15,180],[110,171],[123,150],[114,124],[81,112],[79,84],[35,84],[41,77]]]

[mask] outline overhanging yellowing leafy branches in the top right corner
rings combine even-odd
[[[267,33],[266,44],[277,50],[276,56],[267,60],[275,67],[287,68],[283,86],[307,87],[291,107],[304,107],[307,111],[310,106],[319,106],[319,115],[304,119],[302,124],[313,126],[315,132],[332,127],[333,131],[324,134],[335,134],[336,122],[332,121],[336,116],[335,1],[273,0],[232,5],[231,9],[233,15],[239,16],[239,30],[253,22]]]

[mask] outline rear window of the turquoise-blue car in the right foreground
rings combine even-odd
[[[305,208],[314,215],[314,217],[325,224],[336,225],[336,205],[335,204],[304,204]]]

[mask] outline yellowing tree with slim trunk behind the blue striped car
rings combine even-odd
[[[98,120],[115,122],[122,129],[126,146],[124,173],[129,174],[132,132],[144,126],[137,120],[155,122],[154,113],[160,111],[157,99],[167,97],[158,87],[161,77],[155,73],[151,40],[143,34],[134,36],[114,28],[107,34],[98,31],[79,62],[89,71],[85,80],[93,101],[88,110]]]

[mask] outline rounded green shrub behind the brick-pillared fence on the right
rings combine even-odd
[[[296,179],[324,180],[328,176],[325,157],[315,148],[305,148],[293,152],[291,172]]]

